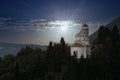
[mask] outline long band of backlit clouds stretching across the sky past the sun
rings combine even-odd
[[[98,25],[89,23],[90,26]],[[45,31],[54,30],[59,27],[81,27],[82,23],[73,21],[47,21],[45,19],[31,19],[31,20],[16,20],[11,18],[0,18],[0,30],[13,30],[13,31]]]

